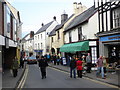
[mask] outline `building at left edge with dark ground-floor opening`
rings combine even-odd
[[[19,11],[6,0],[0,1],[0,61],[3,69],[10,68],[15,56],[19,59],[21,25]]]

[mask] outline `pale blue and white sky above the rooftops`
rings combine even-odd
[[[61,14],[73,14],[73,2],[81,2],[86,7],[91,7],[94,0],[7,0],[20,12],[22,25],[22,37],[37,32],[41,24],[47,24],[56,16],[58,23],[61,21]]]

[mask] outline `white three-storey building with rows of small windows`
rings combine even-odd
[[[34,35],[34,51],[36,55],[45,55],[49,53],[50,50],[50,32],[58,25],[56,17],[53,18],[53,21],[42,24],[42,27]]]

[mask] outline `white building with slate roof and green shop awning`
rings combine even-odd
[[[88,42],[88,47],[81,46],[84,49],[79,49],[73,52],[80,55],[87,55],[87,53],[91,53],[92,62],[95,63],[98,57],[98,38],[96,37],[96,33],[98,32],[98,13],[97,9],[92,6],[86,11],[82,12],[78,16],[76,16],[65,28],[64,30],[64,43],[60,48],[61,52],[71,53],[72,51],[66,49],[67,45],[74,45],[77,43],[86,43]],[[80,47],[80,46],[79,46]],[[76,48],[76,47],[75,47]]]

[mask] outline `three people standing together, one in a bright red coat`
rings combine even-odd
[[[72,73],[74,75],[74,78],[76,78],[76,69],[77,69],[77,75],[79,78],[82,78],[82,72],[83,72],[83,68],[85,66],[87,66],[87,72],[91,73],[91,66],[92,66],[92,60],[91,60],[91,56],[90,53],[88,53],[88,56],[85,58],[85,56],[83,57],[79,57],[76,58],[75,56],[73,56],[71,58],[70,61],[70,77],[72,78]]]

